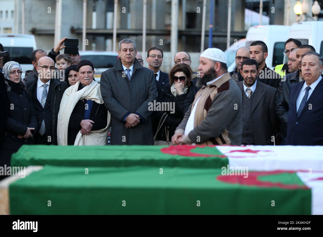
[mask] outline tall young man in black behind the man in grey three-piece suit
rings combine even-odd
[[[268,48],[263,41],[255,41],[250,44],[250,58],[257,61],[260,69],[257,81],[278,88],[281,77],[267,67],[267,56]]]

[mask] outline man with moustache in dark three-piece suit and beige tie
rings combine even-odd
[[[244,78],[237,83],[242,93],[242,144],[274,145],[277,89],[256,80],[259,68],[254,59],[244,60],[240,73]]]

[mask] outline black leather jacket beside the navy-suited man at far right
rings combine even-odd
[[[287,119],[289,110],[289,90],[293,84],[299,82],[299,71],[285,75],[279,83],[276,95],[276,112],[280,120],[281,133],[287,136]]]

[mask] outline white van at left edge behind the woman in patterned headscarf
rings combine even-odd
[[[0,34],[0,43],[3,45],[4,50],[9,52],[9,57],[4,57],[4,63],[9,61],[16,61],[20,64],[23,74],[27,70],[34,68],[31,64],[30,55],[37,49],[36,40],[34,35],[23,34]]]

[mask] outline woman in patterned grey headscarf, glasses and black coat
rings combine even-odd
[[[37,126],[37,114],[21,80],[22,70],[17,62],[10,61],[3,67],[9,103],[5,134],[0,144],[0,166],[10,166],[12,153],[23,144],[33,144]],[[0,176],[0,179],[3,178]]]

